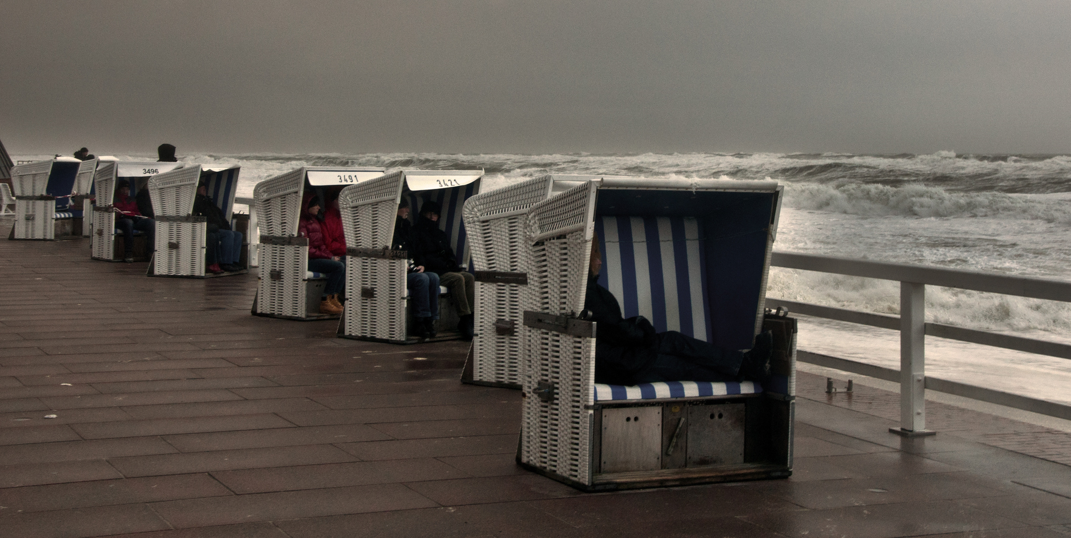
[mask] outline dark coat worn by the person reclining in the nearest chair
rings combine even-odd
[[[621,318],[614,294],[588,278],[584,309],[595,322],[595,383],[635,385],[634,376],[658,359],[657,331],[644,316]]]

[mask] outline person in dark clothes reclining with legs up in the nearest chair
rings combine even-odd
[[[763,380],[770,375],[773,334],[755,338],[749,352],[723,349],[677,331],[657,332],[644,316],[621,317],[621,307],[599,285],[602,257],[591,244],[584,309],[595,322],[595,383],[636,385],[655,382]]]

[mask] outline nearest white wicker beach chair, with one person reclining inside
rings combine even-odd
[[[773,181],[603,178],[529,210],[523,466],[585,491],[790,475],[795,323],[764,314],[780,195]],[[595,327],[577,318],[595,231],[625,317],[730,349],[773,329],[774,375],[597,385]]]

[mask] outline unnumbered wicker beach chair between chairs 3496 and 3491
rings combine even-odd
[[[161,173],[149,179],[149,196],[156,213],[156,252],[149,264],[149,277],[205,279],[248,272],[248,230],[243,234],[241,271],[220,274],[205,272],[208,224],[193,216],[194,198],[200,181],[208,183],[208,196],[231,221],[239,166],[209,167],[199,164]],[[235,226],[232,226],[235,227]]]

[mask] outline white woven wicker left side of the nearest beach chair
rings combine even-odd
[[[579,185],[560,196],[536,204],[525,229],[522,268],[528,285],[522,292],[522,308],[536,312],[573,315],[584,307],[587,266],[591,248],[591,185]],[[568,235],[534,242],[553,227],[576,228]],[[529,398],[524,399],[522,461],[591,483],[590,429],[594,403],[594,339],[522,326],[521,379]],[[534,398],[540,382],[556,387],[555,398]]]

